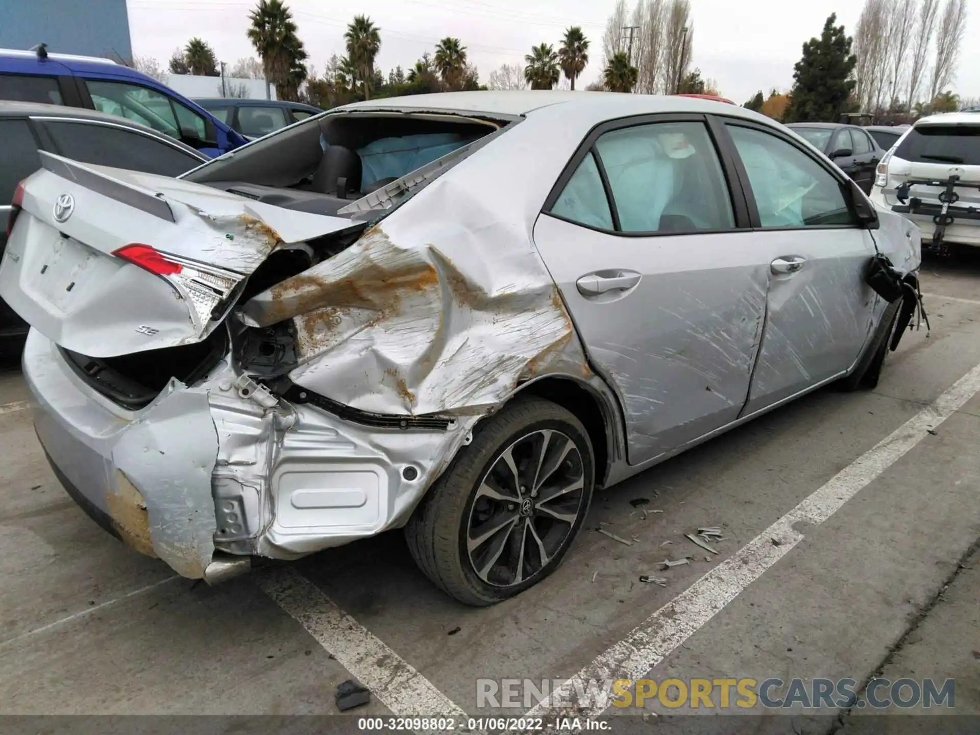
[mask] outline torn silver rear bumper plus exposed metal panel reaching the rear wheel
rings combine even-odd
[[[35,330],[24,374],[37,437],[75,502],[192,578],[209,578],[222,554],[296,559],[404,524],[476,420],[357,425],[310,405],[262,405],[227,368],[192,388],[172,381],[130,412]]]

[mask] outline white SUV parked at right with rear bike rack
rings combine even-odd
[[[980,116],[917,121],[878,164],[871,201],[918,224],[924,248],[980,247]]]

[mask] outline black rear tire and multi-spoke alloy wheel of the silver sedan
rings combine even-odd
[[[570,451],[566,452],[562,456],[568,459],[557,461],[553,470],[558,472],[565,467],[573,467],[569,471],[574,471],[576,477],[578,476],[577,472],[581,471],[582,489],[580,496],[578,491],[568,493],[570,502],[577,504],[577,516],[574,522],[567,523],[568,528],[564,531],[566,536],[564,536],[564,540],[559,539],[560,546],[557,547],[554,554],[546,555],[545,547],[543,545],[540,547],[541,552],[538,554],[540,567],[530,573],[527,578],[510,584],[491,584],[478,574],[475,563],[471,561],[471,552],[467,546],[467,539],[471,532],[470,523],[477,510],[474,508],[474,503],[487,504],[488,501],[485,496],[478,498],[478,491],[482,492],[481,486],[490,483],[491,470],[499,466],[498,461],[503,461],[502,458],[506,452],[510,451],[510,457],[514,458],[514,455],[517,454],[515,447],[522,446],[520,442],[533,441],[527,437],[538,435],[536,432],[540,432],[541,436],[546,437],[542,440],[544,445],[542,451],[546,455],[548,442],[552,441],[550,438],[552,436],[562,437],[561,441],[570,440],[574,449],[577,450],[579,460],[573,460],[574,455]],[[567,443],[562,446],[566,447]],[[551,456],[557,458],[558,454]],[[518,469],[517,478],[515,478],[516,485],[520,485],[520,476],[528,466],[528,462],[521,463],[518,461],[515,463]],[[578,462],[578,464],[573,465],[573,462]],[[537,466],[544,466],[544,458]],[[537,472],[540,471],[539,468]],[[537,397],[515,399],[497,415],[486,418],[477,424],[473,431],[472,441],[460,449],[449,468],[422,498],[405,527],[409,550],[425,575],[447,594],[466,605],[475,607],[494,605],[537,584],[558,568],[585,521],[594,482],[595,459],[592,443],[581,421],[571,412],[550,401]],[[535,480],[531,484],[535,483],[536,474]],[[518,496],[520,490],[526,491],[526,487],[521,486],[517,490]],[[536,493],[537,490],[533,492]],[[544,522],[546,526],[551,522],[555,524],[555,527],[559,527],[557,521],[550,520],[544,515],[536,515],[538,512],[533,505],[534,503],[543,505],[545,502],[558,502],[542,500],[545,494],[542,489],[541,497],[537,501],[532,501],[532,506],[528,512],[535,514],[536,519],[535,517],[528,517],[526,522],[532,526],[535,522]],[[530,499],[532,496],[526,495],[525,497]],[[496,500],[489,501],[490,504],[496,502]],[[526,502],[525,500],[524,503]],[[516,521],[518,524],[524,523],[524,520],[521,519],[524,517],[524,503],[520,504],[518,510],[518,515],[520,515]],[[514,509],[508,508],[507,510],[513,512]],[[487,524],[491,525],[491,523]],[[516,528],[517,526],[513,527]],[[527,533],[526,530],[522,532]],[[562,531],[555,533],[560,534]],[[509,556],[513,556],[512,551],[514,550],[513,546],[509,546],[511,534],[512,531],[508,530],[505,534],[506,538],[498,536],[498,538],[503,538],[500,544],[501,549],[507,550]],[[537,536],[533,538],[537,540]],[[475,540],[472,543],[475,543]],[[515,579],[522,575],[525,569],[532,566],[531,563],[525,566],[523,552],[524,547],[521,546],[520,552],[516,555],[519,559],[516,566],[520,571],[515,573]],[[500,553],[501,559],[504,556],[503,553]]]

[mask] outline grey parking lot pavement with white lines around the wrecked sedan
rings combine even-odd
[[[848,733],[882,714],[954,714],[976,732],[980,720],[962,715],[980,715],[980,267],[927,260],[922,283],[931,332],[905,336],[875,390],[820,390],[599,493],[564,565],[482,610],[432,587],[400,532],[214,588],[175,577],[61,489],[8,359],[0,713],[330,715],[336,687],[355,678],[372,692],[359,717],[452,715],[457,729],[472,717],[473,729],[494,730],[501,723],[480,718],[531,711],[547,730],[567,706],[556,695],[535,708],[525,679],[555,689],[625,672],[687,689],[708,680],[712,694],[675,706],[674,685],[618,708],[579,693],[580,712],[664,732],[709,731],[694,716],[706,713],[730,715],[724,731],[760,732],[752,715],[766,712],[793,717],[770,717],[774,731]],[[630,545],[590,530],[600,522]],[[707,526],[721,530],[718,554],[685,536]],[[691,563],[659,570],[682,556]],[[769,707],[734,704],[746,679],[781,682]],[[851,679],[858,699],[772,707],[795,679],[808,690]],[[937,691],[954,679],[953,706],[872,705],[866,685],[879,679],[929,679]],[[728,707],[725,680],[735,681]],[[907,717],[875,722],[904,732]]]

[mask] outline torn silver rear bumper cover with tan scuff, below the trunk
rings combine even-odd
[[[203,577],[215,553],[218,453],[207,395],[165,391],[134,414],[89,389],[36,331],[23,361],[37,438],[75,502],[136,551]]]

